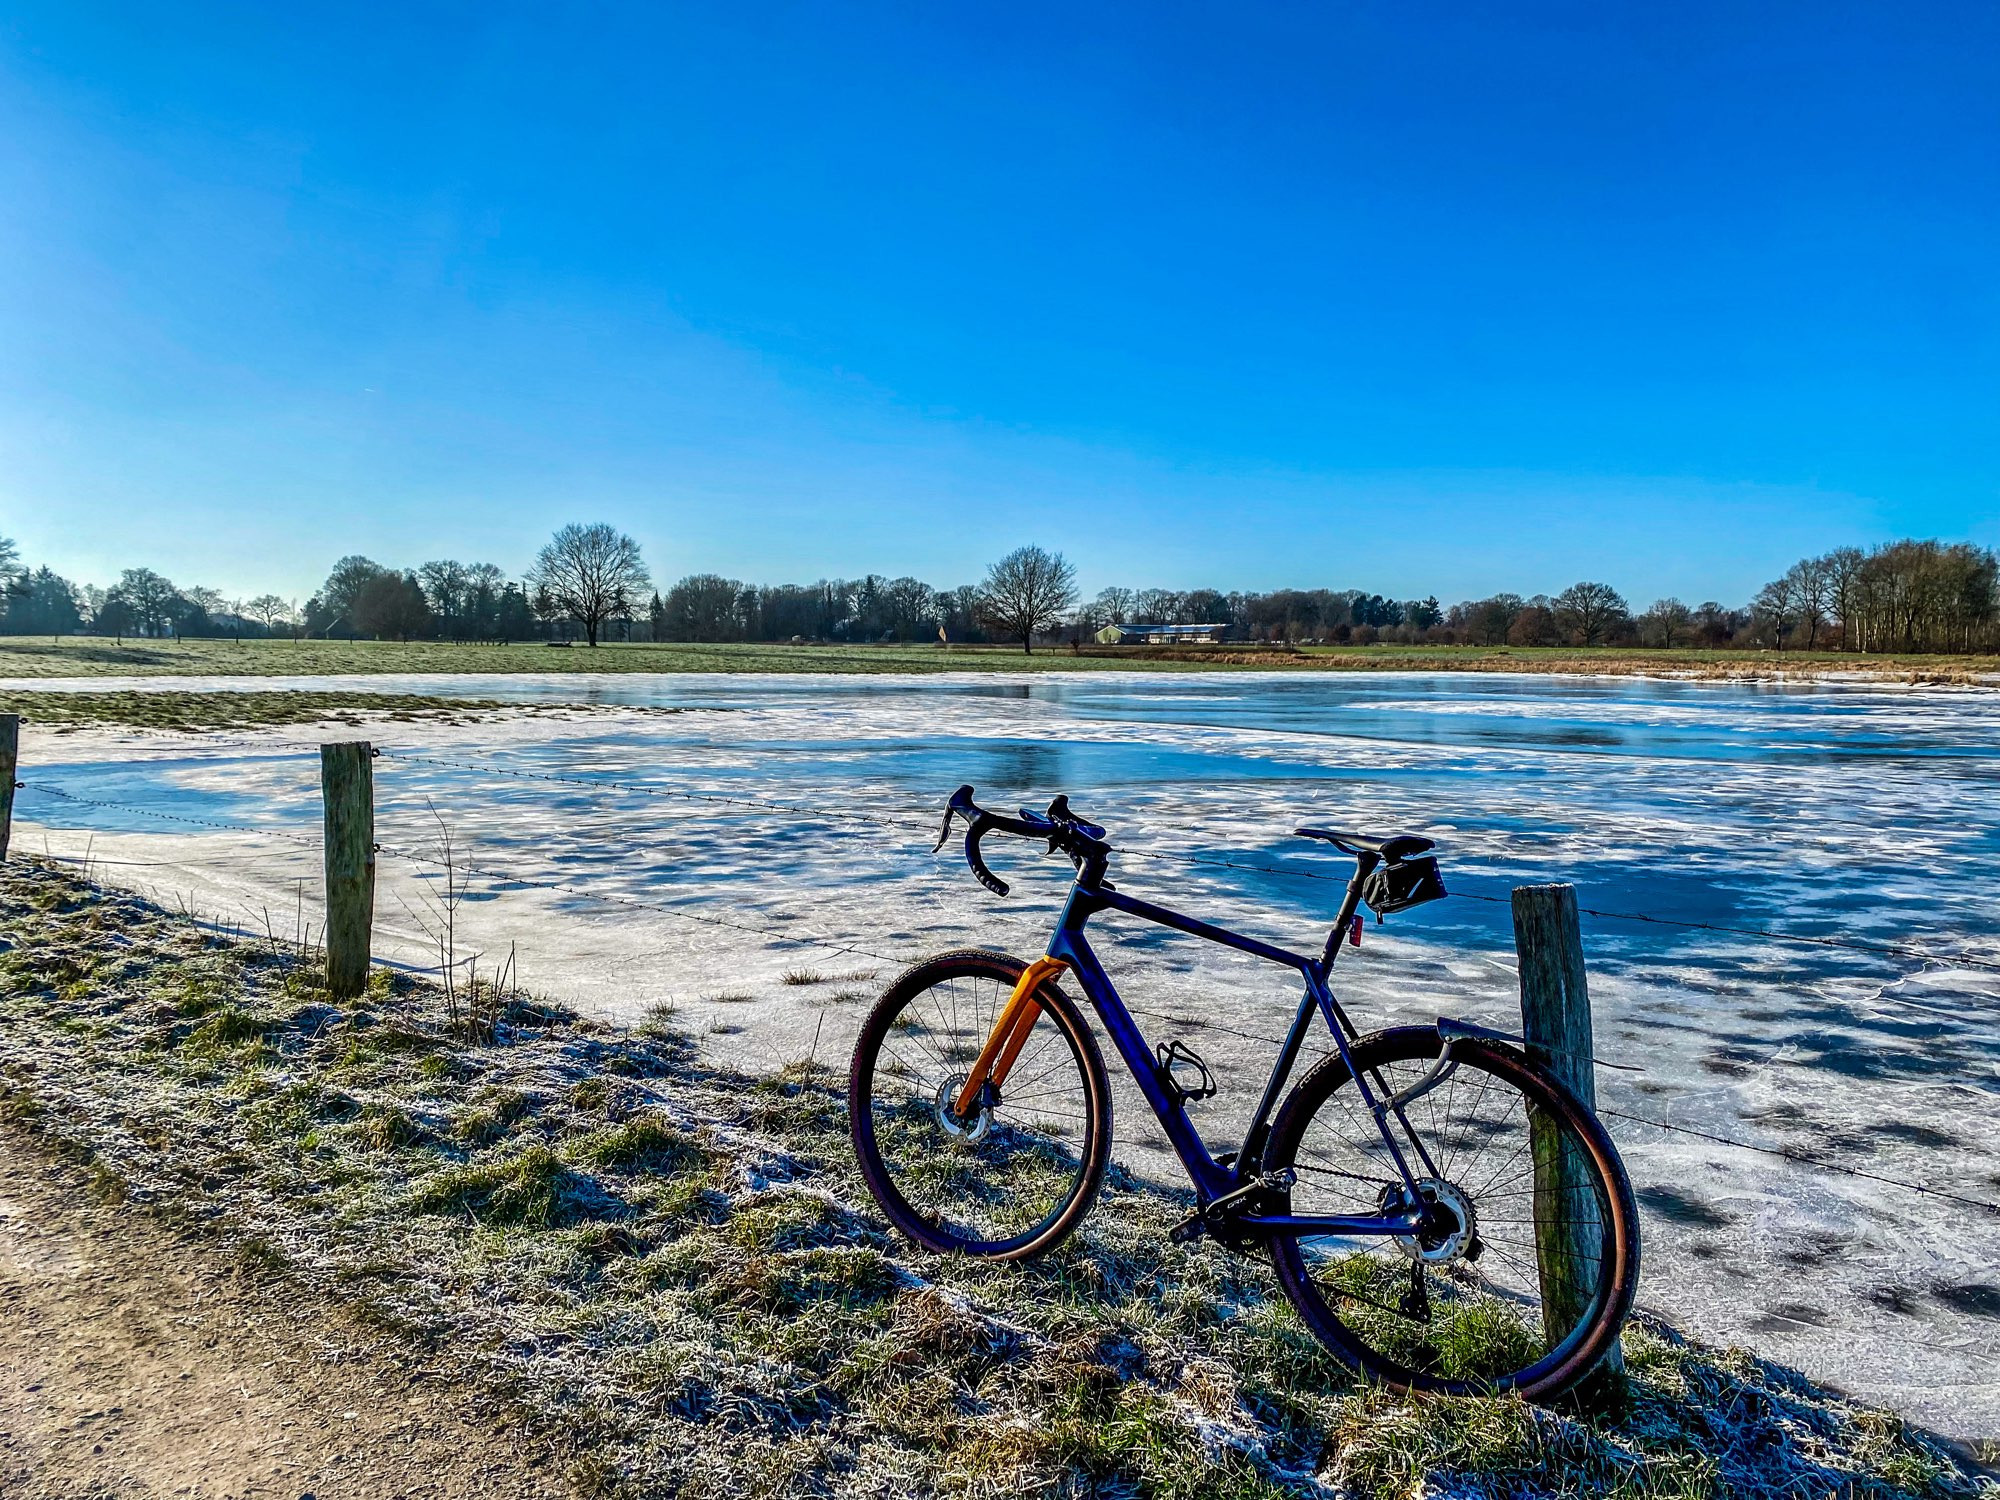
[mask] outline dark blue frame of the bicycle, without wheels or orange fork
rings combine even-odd
[[[1390,1130],[1390,1118],[1402,1124],[1424,1170],[1436,1176],[1436,1168],[1430,1164],[1422,1142],[1416,1138],[1416,1132],[1410,1128],[1410,1122],[1402,1112],[1402,1106],[1420,1090],[1406,1090],[1398,1096],[1384,1094],[1378,1098],[1376,1090],[1368,1086],[1368,1080],[1354,1062],[1354,1024],[1340,1008],[1332,988],[1328,988],[1328,974],[1332,972],[1334,958],[1340,952],[1340,940],[1354,922],[1354,912],[1360,906],[1362,876],[1372,864],[1370,856],[1364,854],[1360,858],[1360,874],[1356,874],[1356,878],[1348,884],[1346,898],[1340,904],[1340,916],[1334,922],[1334,932],[1326,940],[1326,952],[1320,958],[1306,958],[1304,954],[1294,954],[1286,948],[1274,948],[1268,942],[1246,938],[1238,932],[1230,932],[1228,928],[1218,928],[1212,922],[1202,922],[1166,906],[1126,896],[1110,884],[1094,880],[1090,872],[1080,872],[1076,884],[1070,888],[1070,900],[1062,908],[1062,918],[1056,922],[1056,934],[1048,944],[1048,956],[1068,964],[1076,972],[1084,994],[1090,996],[1090,1004],[1098,1012],[1098,1020],[1104,1024],[1104,1032],[1112,1038],[1112,1046],[1118,1048],[1118,1056],[1124,1058],[1126,1068],[1140,1086],[1140,1092],[1158,1116],[1160,1128],[1166,1132],[1168,1142],[1172,1142],[1174,1154],[1180,1158],[1188,1178],[1194,1182],[1196,1202],[1202,1210],[1200,1218],[1204,1220],[1210,1210],[1244,1204],[1260,1188],[1270,1186],[1264,1182],[1260,1170],[1264,1140],[1270,1134],[1270,1116],[1286,1080],[1292,1074],[1292,1066],[1298,1062],[1298,1052],[1306,1042],[1306,1032],[1312,1028],[1314,1012],[1326,1018],[1326,1026],[1334,1034],[1334,1046],[1340,1050],[1342,1060],[1346,1060],[1348,1070],[1354,1076],[1354,1084],[1360,1090],[1360,1098],[1366,1104],[1368,1114],[1374,1118],[1376,1128],[1382,1132],[1382,1142],[1388,1146],[1390,1158],[1396,1162],[1396,1170],[1408,1190],[1404,1202],[1416,1204],[1422,1200],[1422,1194],[1416,1186],[1416,1174]],[[1244,1132],[1240,1150],[1234,1154],[1234,1160],[1226,1164],[1210,1154],[1208,1144],[1188,1118],[1184,1100],[1168,1090],[1152,1046],[1146,1042],[1144,1034],[1140,1034],[1138,1024],[1132,1020],[1132,1012],[1126,1010],[1124,1000],[1118,996],[1118,988],[1112,984],[1110,974],[1104,972],[1104,964],[1098,962],[1090,940],[1084,936],[1084,928],[1090,918],[1106,910],[1126,912],[1128,916],[1136,916],[1164,928],[1174,928],[1176,932],[1186,932],[1188,936],[1202,938],[1204,942],[1218,942],[1224,948],[1234,948],[1250,954],[1252,958],[1282,964],[1298,970],[1300,978],[1306,982],[1306,992],[1298,1002],[1298,1014],[1292,1018],[1292,1026],[1286,1032],[1284,1046],[1272,1066],[1270,1080],[1264,1084],[1264,1096],[1258,1100],[1256,1112],[1250,1116],[1250,1126]],[[1380,1084],[1382,1080],[1378,1078],[1376,1082]],[[1232,1232],[1256,1238],[1314,1234],[1414,1234],[1420,1224],[1422,1214],[1414,1210],[1394,1214],[1232,1212],[1228,1218],[1228,1228]]]

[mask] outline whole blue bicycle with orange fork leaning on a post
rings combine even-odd
[[[1612,1348],[1638,1286],[1638,1212],[1604,1126],[1518,1036],[1440,1018],[1362,1034],[1328,984],[1342,944],[1444,896],[1432,840],[1300,828],[1354,858],[1314,958],[1116,890],[1104,828],[1058,796],[1046,814],[988,812],[970,786],[938,832],[966,824],[982,886],[990,832],[1046,840],[1076,866],[1048,952],[928,958],[876,1002],[854,1048],[848,1124],[882,1212],[916,1244],[1022,1260],[1090,1210],[1110,1160],[1110,1078],[1058,986],[1074,974],[1194,1186],[1176,1242],[1266,1252],[1286,1298],[1342,1362],[1398,1388],[1518,1390],[1550,1400]],[[1304,994],[1234,1150],[1210,1154],[1188,1104],[1216,1094],[1184,1042],[1148,1046],[1084,928],[1122,912],[1296,970]],[[1314,1016],[1334,1052],[1284,1094]],[[1284,1100],[1280,1104],[1280,1094]]]

